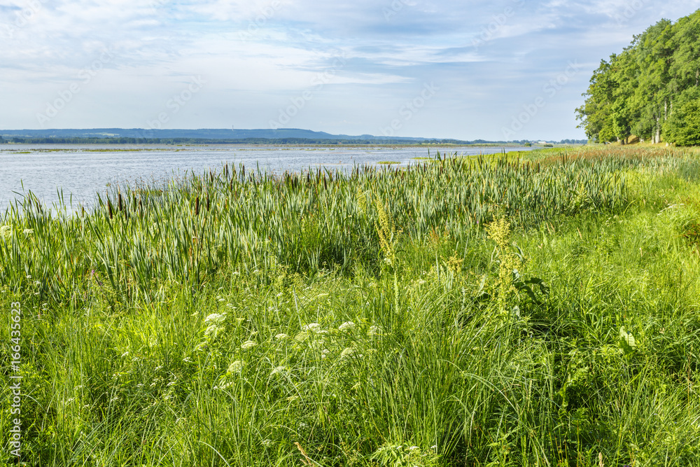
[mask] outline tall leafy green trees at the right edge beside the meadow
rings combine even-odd
[[[596,142],[636,136],[678,146],[700,144],[700,10],[661,20],[629,47],[601,60],[576,109]]]

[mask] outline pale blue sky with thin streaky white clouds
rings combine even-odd
[[[591,73],[700,0],[0,0],[0,129],[584,139]]]

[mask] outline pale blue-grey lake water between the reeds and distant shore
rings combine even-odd
[[[120,152],[99,152],[121,149]],[[506,148],[526,151],[529,148]],[[450,153],[477,155],[498,153],[502,148],[451,148]],[[442,151],[441,151],[442,152]],[[435,150],[430,150],[434,155]],[[300,172],[325,166],[348,170],[353,165],[374,165],[381,161],[418,163],[414,158],[428,156],[427,148],[303,148],[273,146],[66,146],[52,144],[0,144],[0,213],[29,190],[54,204],[62,190],[66,204],[90,205],[95,193],[107,186],[134,185],[144,181],[166,181],[221,169],[223,164],[244,164],[251,170],[272,173]],[[71,209],[72,210],[72,209]]]

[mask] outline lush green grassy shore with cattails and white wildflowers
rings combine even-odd
[[[415,162],[15,204],[20,461],[700,466],[699,153]]]

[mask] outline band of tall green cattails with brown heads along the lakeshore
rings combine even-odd
[[[437,156],[440,158],[440,155]],[[153,281],[197,286],[221,267],[294,272],[374,266],[379,240],[374,200],[405,237],[434,232],[465,239],[494,216],[528,228],[558,214],[615,211],[626,202],[624,180],[610,163],[563,162],[543,168],[511,158],[462,160],[351,174],[318,170],[268,176],[224,167],[165,187],[127,188],[100,196],[83,216],[54,218],[38,200],[6,215],[6,225],[34,230],[23,249],[20,229],[3,245],[0,281],[65,299],[76,280],[102,277],[119,293],[146,293]]]

